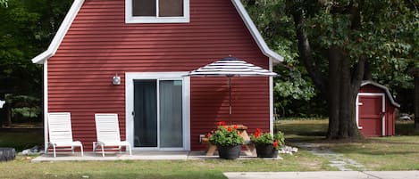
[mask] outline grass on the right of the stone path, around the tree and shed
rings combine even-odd
[[[314,142],[362,163],[369,170],[419,169],[419,134],[414,131],[414,121],[397,121],[395,136],[346,142],[324,140],[326,119],[283,120],[275,125],[285,132],[288,143]]]

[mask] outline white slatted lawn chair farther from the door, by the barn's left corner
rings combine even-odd
[[[48,148],[53,147],[54,158],[57,147],[63,150],[71,149],[72,154],[74,154],[74,147],[80,147],[81,157],[83,157],[83,145],[80,141],[72,140],[70,112],[48,113],[48,132]]]

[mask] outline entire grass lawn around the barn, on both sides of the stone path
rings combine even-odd
[[[286,142],[315,142],[342,153],[370,170],[419,169],[419,136],[410,129],[412,122],[398,122],[398,134],[351,142],[325,141],[328,121],[280,120],[275,122],[286,135]],[[0,146],[30,148],[42,143],[36,132],[0,132]],[[33,157],[18,156],[0,162],[0,178],[225,178],[222,172],[244,171],[319,171],[336,170],[328,160],[300,150],[282,155],[281,160],[205,159],[205,160],[130,160],[30,163]]]

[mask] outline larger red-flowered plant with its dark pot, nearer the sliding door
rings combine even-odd
[[[238,159],[244,140],[235,126],[218,126],[209,142],[217,146],[218,155],[222,159]]]

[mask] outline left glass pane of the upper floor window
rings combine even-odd
[[[155,1],[156,0],[132,0],[132,15],[155,17]]]

